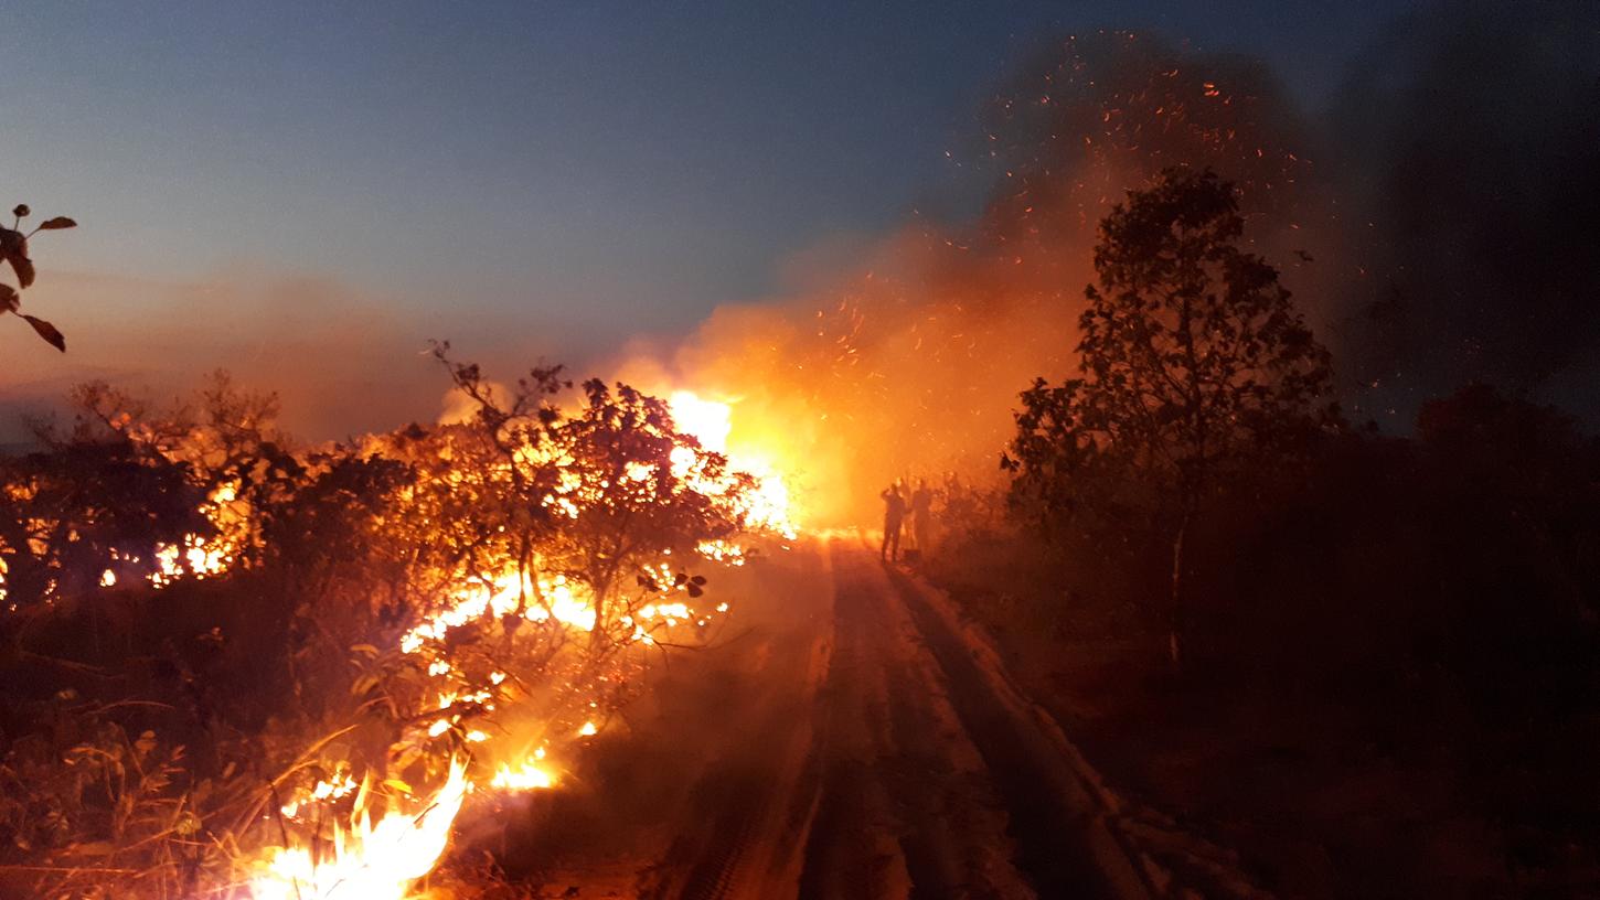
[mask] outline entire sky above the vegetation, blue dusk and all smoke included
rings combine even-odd
[[[307,438],[430,419],[445,337],[765,371],[771,420],[989,459],[1174,163],[1240,184],[1358,417],[1470,379],[1600,414],[1592,0],[61,2],[0,59],[0,206],[82,225],[24,301],[70,353],[0,321],[0,443],[213,368]]]

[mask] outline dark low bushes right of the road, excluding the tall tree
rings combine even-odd
[[[1222,823],[1269,889],[1586,895],[1600,871],[1587,432],[1469,385],[1422,404],[1410,436],[1322,433],[1293,467],[1230,473],[1186,545],[1176,683],[1149,603],[1160,560],[1107,552],[1120,529],[1046,542],[1014,520],[933,572],[1077,740],[1125,751],[1123,787]],[[1442,854],[1419,820],[1478,836]]]

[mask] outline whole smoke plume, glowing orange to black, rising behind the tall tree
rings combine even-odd
[[[1210,166],[1357,422],[1403,430],[1474,379],[1558,392],[1600,342],[1595,19],[1437,6],[1320,117],[1245,56],[1053,42],[958,155],[994,177],[976,222],[917,222],[829,289],[718,310],[624,371],[734,400],[731,441],[800,473],[813,524],[870,521],[896,478],[994,478],[1018,392],[1075,364],[1099,219],[1166,166]]]

